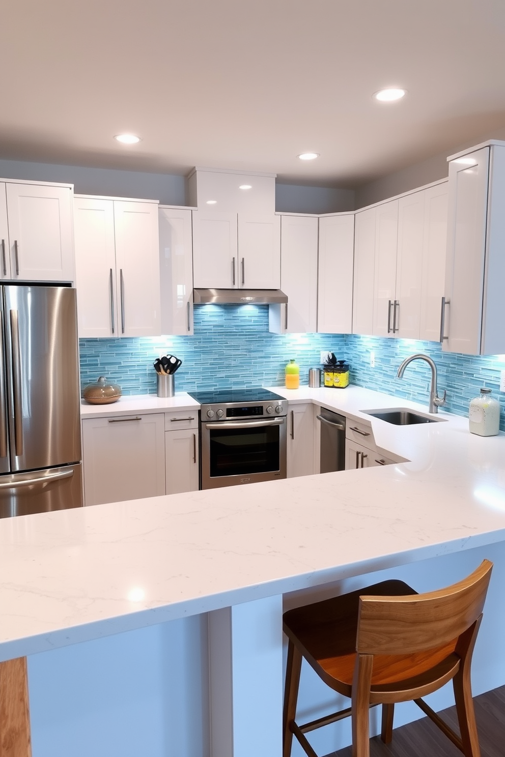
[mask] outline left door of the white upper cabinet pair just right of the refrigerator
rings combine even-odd
[[[79,337],[119,336],[114,201],[73,200]]]

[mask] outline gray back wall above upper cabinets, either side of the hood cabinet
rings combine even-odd
[[[74,185],[79,195],[145,198],[159,200],[164,205],[189,204],[185,176],[170,173],[0,160],[0,176],[4,179],[67,182]],[[276,210],[284,213],[354,210],[354,192],[350,189],[277,184]]]

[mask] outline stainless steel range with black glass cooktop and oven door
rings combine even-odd
[[[201,404],[201,489],[286,477],[288,400],[267,389],[189,394]]]

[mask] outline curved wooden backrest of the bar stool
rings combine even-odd
[[[356,650],[405,655],[457,640],[482,614],[491,569],[483,560],[450,587],[407,597],[360,597]]]

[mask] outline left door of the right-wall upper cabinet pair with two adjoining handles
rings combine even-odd
[[[391,200],[376,208],[376,265],[373,297],[374,336],[394,336],[397,238],[398,201]]]

